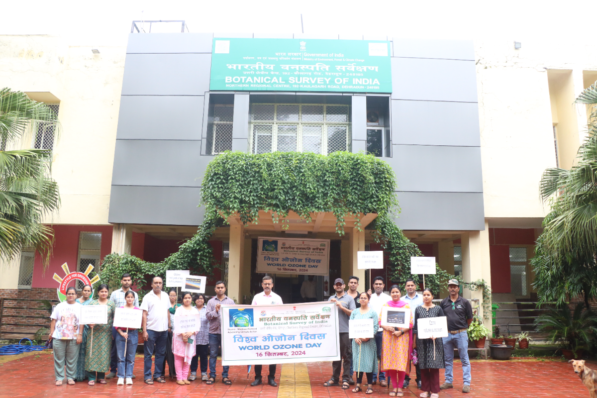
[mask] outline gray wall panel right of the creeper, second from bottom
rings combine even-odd
[[[394,145],[385,160],[401,191],[483,192],[479,147]]]

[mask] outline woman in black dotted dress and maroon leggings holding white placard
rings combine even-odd
[[[444,316],[442,307],[433,304],[433,293],[427,288],[423,291],[423,305],[414,311],[415,335],[414,347],[417,348],[418,367],[421,369],[421,398],[438,398],[439,369],[444,369],[444,342],[441,337],[423,338],[417,336],[417,320]]]

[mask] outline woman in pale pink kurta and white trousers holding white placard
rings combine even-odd
[[[175,317],[197,314],[197,308],[192,307],[190,303],[193,295],[190,292],[183,293],[183,305],[176,308]],[[195,334],[196,332],[179,333],[174,331],[172,339],[172,351],[174,353],[174,367],[176,368],[176,379],[180,385],[190,384],[189,368],[190,362],[195,356]]]

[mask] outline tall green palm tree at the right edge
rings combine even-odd
[[[541,198],[550,201],[551,211],[531,266],[540,302],[564,303],[570,295],[582,295],[588,310],[589,301],[597,297],[597,85],[584,90],[576,103],[593,105],[588,137],[570,170],[549,168],[543,173]]]

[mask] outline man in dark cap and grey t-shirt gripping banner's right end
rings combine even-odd
[[[324,383],[325,387],[338,385],[340,381],[340,366],[342,366],[342,388],[347,390],[350,387],[350,358],[352,357],[352,345],[348,338],[348,320],[350,314],[355,310],[355,300],[344,292],[346,284],[344,280],[338,278],[334,280],[334,290],[336,295],[330,297],[330,300],[336,303],[338,307],[338,332],[340,340],[340,360],[332,362],[332,377]]]

